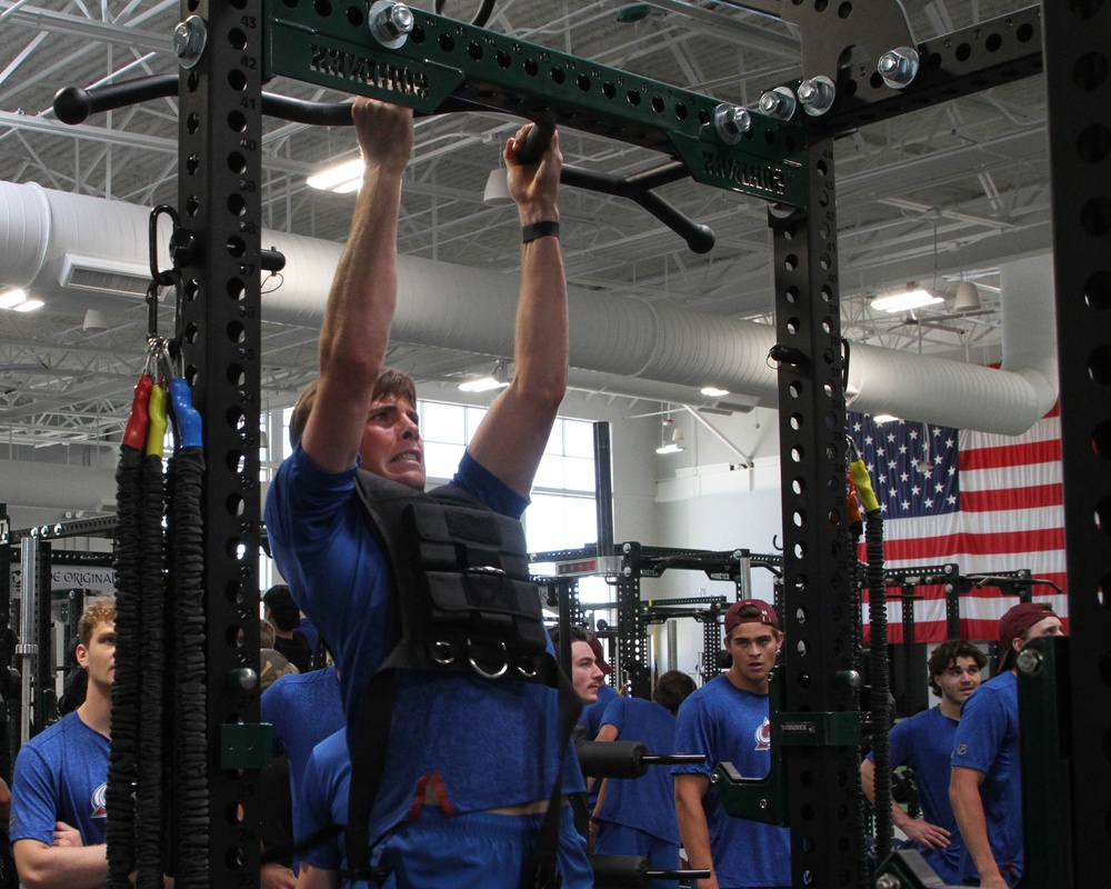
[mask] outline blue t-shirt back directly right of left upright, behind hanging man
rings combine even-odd
[[[312,748],[347,725],[334,667],[280,676],[262,692],[262,721],[273,726],[273,753],[289,757],[289,786],[298,785]]]

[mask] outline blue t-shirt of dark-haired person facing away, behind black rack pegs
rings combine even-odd
[[[649,753],[675,752],[675,718],[655,701],[615,698],[605,708],[602,725],[613,726],[619,741],[641,741]],[[671,770],[649,766],[640,778],[609,778],[598,819],[637,828],[678,846],[675,780]]]

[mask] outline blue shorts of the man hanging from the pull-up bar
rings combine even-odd
[[[383,889],[517,889],[543,815],[470,812],[450,818],[424,806],[416,821],[398,825],[374,847],[371,863],[388,868]],[[560,818],[559,870],[563,889],[592,889],[587,841],[570,807]]]

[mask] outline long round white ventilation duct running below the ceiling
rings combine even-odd
[[[67,253],[141,262],[148,217],[148,209],[133,204],[0,182],[0,282],[58,292]],[[262,243],[287,260],[282,286],[263,297],[263,317],[319,327],[342,244],[270,230]],[[1057,397],[1053,290],[1044,258],[1018,264],[1003,273],[1002,370],[853,344],[851,407],[985,432],[1029,429]],[[401,257],[393,339],[508,356],[517,289],[511,271]],[[81,296],[83,311],[90,294]],[[620,393],[617,378],[713,384],[738,402],[775,406],[771,327],[575,288],[570,301],[571,364],[610,374],[610,391]]]

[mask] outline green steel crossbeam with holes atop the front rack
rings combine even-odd
[[[803,208],[805,132],[799,122],[750,112],[727,144],[721,104],[547,47],[411,9],[396,49],[380,43],[361,3],[271,3],[263,77],[288,77],[403,104],[423,113],[493,110],[592,132],[681,160],[707,186]],[[394,41],[391,41],[394,42]]]

